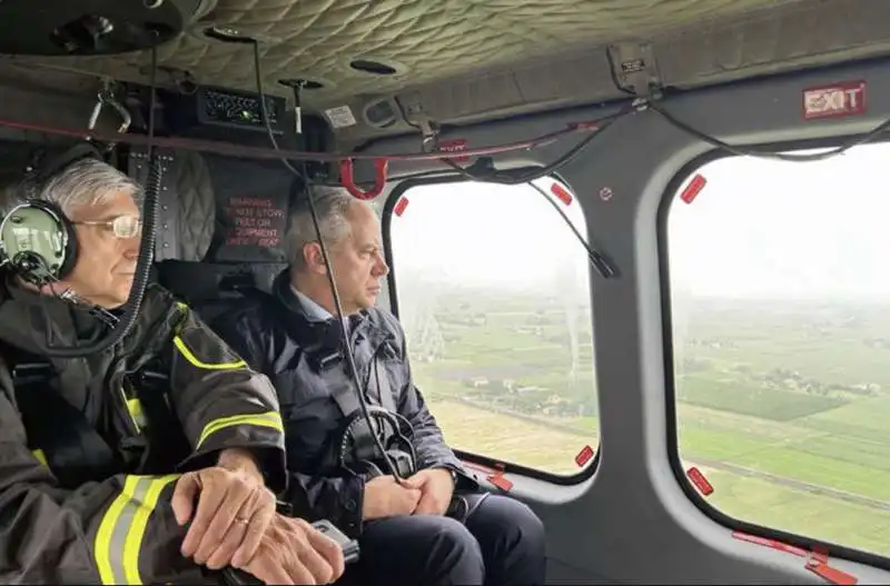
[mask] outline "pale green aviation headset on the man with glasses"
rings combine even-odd
[[[0,220],[0,267],[8,266],[37,286],[70,275],[78,256],[73,224],[59,206],[37,199],[36,191],[83,159],[105,161],[92,143],[76,145],[57,157],[48,157],[44,149],[31,153],[19,192],[24,203],[12,208]]]

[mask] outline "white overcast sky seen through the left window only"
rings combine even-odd
[[[547,193],[552,183],[537,181]],[[390,232],[399,276],[424,271],[455,282],[523,289],[577,278],[584,286],[586,252],[553,206],[527,185],[426,185],[405,197],[408,205],[393,218]],[[560,206],[584,235],[580,206]]]

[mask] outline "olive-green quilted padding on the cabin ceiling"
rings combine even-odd
[[[189,33],[159,51],[160,63],[190,72],[198,82],[253,89],[249,46],[202,37],[211,24],[260,38],[269,91],[281,78],[319,80],[309,106],[429,83],[478,69],[518,64],[657,31],[703,27],[714,19],[800,0],[218,0]],[[813,2],[815,0],[805,0]],[[349,67],[354,59],[390,64],[378,76]],[[144,80],[146,54],[117,58],[27,59]]]

